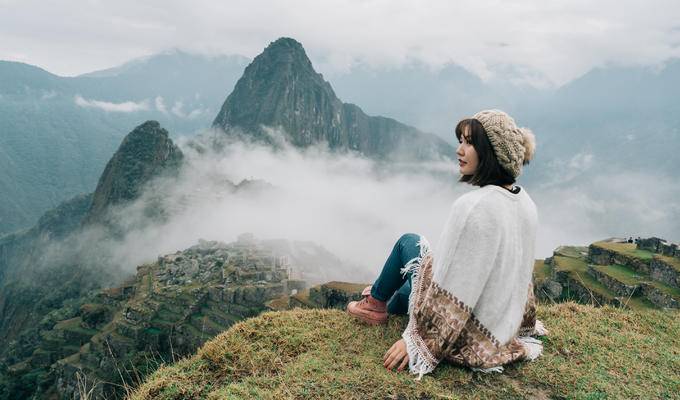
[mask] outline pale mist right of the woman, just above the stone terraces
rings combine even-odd
[[[674,177],[651,172],[591,171],[562,185],[537,186],[538,255],[559,245],[588,245],[609,237],[680,241],[680,188]]]

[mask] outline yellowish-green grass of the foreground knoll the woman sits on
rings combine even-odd
[[[540,306],[538,316],[550,335],[536,361],[489,375],[442,363],[418,382],[382,367],[405,317],[369,327],[339,310],[267,312],[162,367],[131,398],[618,399],[680,391],[677,312],[562,303]]]

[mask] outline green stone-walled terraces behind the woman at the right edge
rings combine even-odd
[[[536,295],[632,308],[680,308],[678,246],[663,239],[610,238],[560,246],[534,269]]]

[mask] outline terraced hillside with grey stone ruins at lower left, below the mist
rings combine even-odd
[[[287,254],[263,243],[251,234],[229,244],[199,240],[138,266],[134,277],[97,292],[76,315],[41,332],[37,350],[14,370],[49,368],[62,397],[77,397],[78,374],[108,382],[93,398],[120,397],[120,376],[132,374],[130,368],[151,371],[149,360],[192,354],[234,323],[268,310],[268,301],[308,291],[305,281],[289,279],[296,267]]]

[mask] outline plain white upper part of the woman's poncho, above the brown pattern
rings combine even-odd
[[[519,329],[527,291],[503,288],[524,288],[531,282],[536,205],[524,188],[513,194],[486,185],[461,196],[451,213],[459,215],[450,217],[437,245],[435,279],[452,293],[460,293],[457,297],[463,303],[475,304],[473,315],[505,344]],[[490,268],[482,269],[480,264]],[[481,286],[483,272],[488,277]]]

